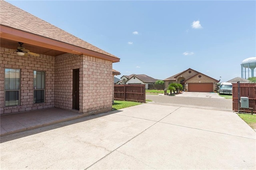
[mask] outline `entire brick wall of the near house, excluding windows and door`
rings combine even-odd
[[[18,56],[1,47],[0,114],[58,107],[72,110],[73,69],[80,70],[80,113],[111,111],[114,89],[112,62],[95,57],[65,53],[59,56]],[[20,69],[20,105],[4,107],[4,69]],[[34,103],[33,71],[45,71],[45,103]]]

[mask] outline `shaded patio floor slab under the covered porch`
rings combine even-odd
[[[85,115],[57,108],[42,109],[12,115],[1,115],[0,136],[71,121]]]

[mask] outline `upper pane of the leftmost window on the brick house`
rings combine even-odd
[[[6,90],[20,89],[20,69],[5,69],[4,88]]]

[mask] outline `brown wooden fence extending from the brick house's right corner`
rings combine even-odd
[[[114,100],[146,103],[145,85],[114,85]]]

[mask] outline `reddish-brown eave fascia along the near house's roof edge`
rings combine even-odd
[[[14,28],[10,28],[3,25],[0,25],[0,36],[1,38],[7,39],[7,40],[28,43],[28,44],[37,45],[40,47],[45,47],[45,48],[54,49],[58,51],[64,51],[66,53],[73,53],[78,55],[82,55],[82,54],[89,55],[92,57],[112,61],[113,63],[120,61],[120,58],[118,57],[112,57],[106,54],[98,53],[95,51],[77,47],[75,45],[56,41],[50,38],[38,36],[36,34],[31,34],[21,30],[16,30]]]

